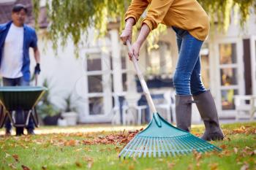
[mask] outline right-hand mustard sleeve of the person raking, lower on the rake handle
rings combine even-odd
[[[171,4],[173,4],[173,0],[152,0],[142,23],[146,23],[150,30],[157,28],[158,24],[165,18]]]

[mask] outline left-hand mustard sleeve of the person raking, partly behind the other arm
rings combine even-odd
[[[143,14],[146,7],[148,7],[147,0],[132,0],[132,3],[129,5],[127,12],[125,13],[125,20],[128,18],[134,18],[135,23],[137,23],[140,15]]]

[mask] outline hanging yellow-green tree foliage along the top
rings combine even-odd
[[[94,28],[96,36],[104,36],[110,21],[120,21],[120,28],[124,28],[124,13],[130,3],[130,0],[46,1],[48,21],[50,22],[47,35],[53,41],[53,48],[55,49],[58,47],[57,42],[59,40],[61,40],[61,46],[64,47],[70,37],[75,47],[78,47],[88,28]],[[227,30],[230,24],[231,12],[240,14],[239,22],[243,27],[253,11],[252,9],[256,9],[255,0],[198,0],[198,2],[208,12],[211,18],[211,26],[215,26],[215,21],[218,20],[218,28],[224,31]],[[39,1],[33,0],[33,6],[34,15],[37,18]],[[148,38],[151,41],[149,44],[153,45],[152,42],[162,31],[165,31],[165,26],[159,26],[153,31]]]

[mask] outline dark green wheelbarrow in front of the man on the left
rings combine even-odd
[[[42,98],[47,88],[38,86],[4,86],[0,88],[0,128],[4,126],[7,117],[13,126],[24,128],[32,117],[34,125],[39,126],[36,104]],[[20,112],[17,112],[17,111]],[[15,118],[14,118],[15,117]]]

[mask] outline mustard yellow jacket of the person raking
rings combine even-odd
[[[132,0],[125,20],[134,18],[137,22],[147,7],[142,23],[146,23],[151,30],[163,23],[187,30],[201,41],[206,39],[210,28],[208,15],[196,0]]]

